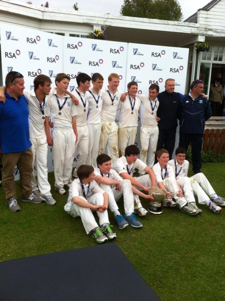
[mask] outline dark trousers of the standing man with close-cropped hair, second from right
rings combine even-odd
[[[159,129],[159,137],[158,137],[156,150],[159,150],[160,148],[165,148],[166,150],[168,150],[170,160],[172,159],[172,155],[173,155],[175,139],[176,139],[176,130],[177,129],[169,129],[169,130]]]

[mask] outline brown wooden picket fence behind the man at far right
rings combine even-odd
[[[206,129],[203,135],[202,149],[225,154],[225,129]]]

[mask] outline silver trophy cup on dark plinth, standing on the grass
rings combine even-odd
[[[149,204],[148,212],[161,214],[163,212],[161,202],[166,198],[166,191],[160,188],[149,188],[148,194],[151,194],[154,198]]]

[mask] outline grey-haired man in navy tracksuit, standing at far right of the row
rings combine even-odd
[[[211,117],[211,108],[207,98],[203,98],[203,82],[191,83],[188,95],[181,99],[180,146],[186,150],[191,142],[194,174],[201,169],[201,147],[205,121]]]

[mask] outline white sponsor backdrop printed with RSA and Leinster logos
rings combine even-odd
[[[19,71],[25,79],[25,88],[31,89],[38,74],[52,79],[64,72],[71,77],[72,92],[79,72],[92,76],[98,72],[104,77],[104,86],[110,73],[120,77],[119,89],[126,91],[130,81],[138,83],[138,93],[147,94],[151,83],[164,90],[165,80],[174,78],[176,92],[184,92],[188,49],[64,37],[43,31],[1,24],[1,55],[3,79],[9,71]],[[104,88],[104,87],[103,87]],[[118,121],[118,114],[116,122]],[[140,122],[140,121],[139,121]],[[140,147],[140,130],[135,142]],[[75,154],[74,166],[76,166]],[[52,148],[48,149],[48,170],[53,170]],[[18,179],[15,169],[15,179]]]

